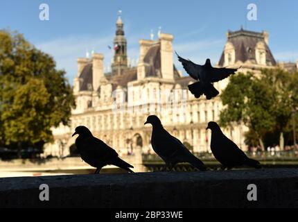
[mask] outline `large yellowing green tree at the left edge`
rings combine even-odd
[[[19,149],[51,142],[75,106],[65,72],[23,35],[0,30],[0,143]]]

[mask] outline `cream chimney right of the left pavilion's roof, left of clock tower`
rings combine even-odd
[[[103,54],[94,53],[92,55],[92,85],[93,90],[96,91],[99,87],[100,79],[104,77],[103,74]]]

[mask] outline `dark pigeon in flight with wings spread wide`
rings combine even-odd
[[[175,53],[189,76],[198,80],[198,82],[188,86],[189,91],[195,95],[195,98],[200,98],[202,94],[206,96],[206,99],[211,99],[217,96],[219,92],[212,83],[227,78],[229,75],[235,74],[235,72],[240,69],[240,67],[238,69],[214,68],[211,66],[209,58],[207,58],[204,65],[198,65],[191,62],[191,60],[186,60],[180,57],[177,52]]]

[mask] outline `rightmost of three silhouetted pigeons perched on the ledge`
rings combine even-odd
[[[216,160],[224,167],[231,169],[232,167],[245,165],[256,169],[261,168],[260,162],[247,157],[231,139],[222,133],[218,123],[210,121],[207,129],[211,130],[211,151]]]

